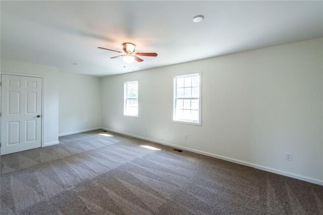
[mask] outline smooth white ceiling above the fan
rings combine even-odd
[[[194,23],[199,14],[204,21]],[[322,36],[322,1],[1,1],[2,58],[94,76]],[[158,56],[126,64],[97,48],[124,42]]]

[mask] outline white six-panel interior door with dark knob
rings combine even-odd
[[[41,147],[42,79],[1,79],[1,155]]]

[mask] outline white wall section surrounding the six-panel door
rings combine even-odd
[[[59,69],[33,63],[1,59],[1,72],[32,74],[44,77],[44,142],[43,145],[58,144],[59,133]]]

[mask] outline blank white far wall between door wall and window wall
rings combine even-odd
[[[100,78],[60,73],[59,95],[60,135],[101,127]]]

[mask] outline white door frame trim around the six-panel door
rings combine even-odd
[[[9,71],[1,71],[0,73],[0,82],[2,82],[2,75],[10,75],[10,76],[24,76],[24,77],[32,77],[32,78],[41,78],[41,147],[44,147],[44,122],[45,122],[45,114],[44,114],[44,107],[45,107],[45,91],[44,91],[44,76],[39,76],[39,75],[33,75],[33,74],[24,74],[24,73],[12,73]],[[1,97],[1,87],[0,87],[0,104],[2,105],[2,97]],[[2,110],[0,105],[0,112]],[[0,141],[1,141],[1,120],[2,118],[0,117]],[[0,148],[0,155],[1,155],[1,148]]]

